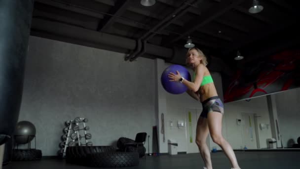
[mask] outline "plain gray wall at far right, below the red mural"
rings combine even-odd
[[[284,147],[292,146],[288,144],[289,140],[297,143],[300,137],[300,88],[276,93],[275,100],[282,144]]]

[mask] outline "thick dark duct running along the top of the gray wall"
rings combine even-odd
[[[59,29],[57,29],[59,28]],[[56,21],[49,21],[33,17],[31,31],[39,33],[39,35],[51,35],[57,39],[73,39],[76,42],[88,42],[95,44],[105,44],[117,48],[135,50],[142,49],[142,42],[129,38],[115,36],[94,30],[88,30],[73,25],[59,23]],[[172,48],[161,47],[153,44],[145,44],[147,54],[159,56],[161,58],[171,58],[173,54]]]

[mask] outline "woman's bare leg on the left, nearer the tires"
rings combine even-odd
[[[201,157],[205,163],[207,169],[212,169],[212,161],[210,158],[210,151],[206,144],[206,138],[209,134],[209,128],[207,124],[207,119],[199,117],[197,128],[196,128],[196,144],[198,145]]]

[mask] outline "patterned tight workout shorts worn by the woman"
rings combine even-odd
[[[206,119],[209,112],[219,112],[224,115],[224,105],[218,96],[213,96],[204,100],[202,102],[202,108],[203,110],[200,116]]]

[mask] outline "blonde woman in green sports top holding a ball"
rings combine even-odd
[[[198,119],[196,129],[196,144],[205,163],[204,169],[212,169],[210,150],[206,144],[206,138],[210,133],[213,141],[218,144],[231,162],[233,168],[240,169],[235,154],[230,144],[222,136],[222,117],[224,106],[218,97],[216,87],[209,70],[206,68],[207,59],[198,48],[189,48],[186,63],[194,71],[194,80],[189,82],[181,77],[180,73],[170,73],[172,82],[180,82],[188,87],[188,94],[202,103],[202,113]]]

